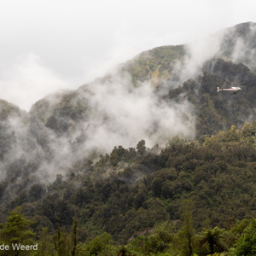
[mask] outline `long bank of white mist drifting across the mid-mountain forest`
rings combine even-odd
[[[195,135],[193,106],[189,102],[160,101],[149,82],[134,87],[128,73],[97,79],[80,87],[75,95],[73,103],[83,100],[89,109],[84,119],[73,121],[73,129],[67,133],[57,134],[37,113],[6,120],[14,142],[0,165],[2,180],[15,174],[17,170],[9,170],[21,163],[24,173],[16,182],[25,177],[31,183],[50,182],[95,152],[109,154],[119,145],[135,147],[141,139],[151,148],[156,143],[165,145],[175,135]],[[60,96],[48,96],[44,101],[55,104]],[[55,118],[63,119],[57,115]],[[69,122],[69,117],[64,121]]]

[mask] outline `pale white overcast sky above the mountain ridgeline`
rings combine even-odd
[[[0,98],[29,110],[143,50],[246,21],[254,0],[2,0]]]

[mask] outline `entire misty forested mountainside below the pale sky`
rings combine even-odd
[[[26,255],[253,255],[255,37],[245,23],[197,48],[145,51],[29,113],[1,100],[1,243],[38,245]]]

